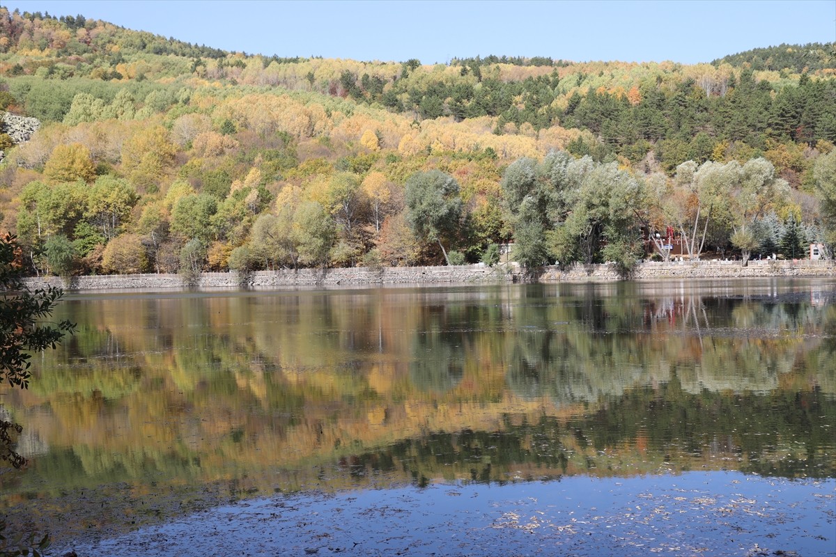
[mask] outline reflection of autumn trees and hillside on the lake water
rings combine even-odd
[[[833,478],[834,302],[802,280],[76,296],[56,318],[79,333],[3,401],[33,467],[0,501]]]

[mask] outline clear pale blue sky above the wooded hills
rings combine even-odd
[[[836,42],[836,0],[227,2],[0,0],[224,50],[445,63],[488,54],[574,62],[711,62],[781,43]]]

